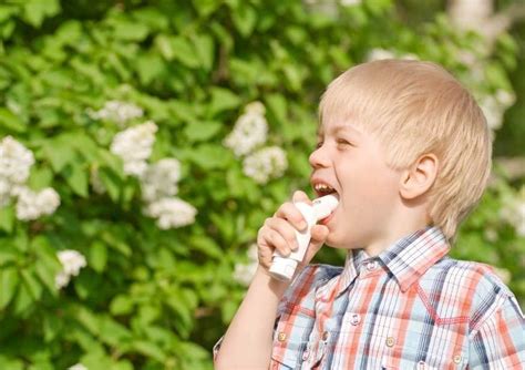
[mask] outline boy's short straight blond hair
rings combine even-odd
[[[474,97],[442,66],[415,60],[356,65],[327,88],[319,121],[333,115],[379,138],[391,168],[439,157],[428,215],[450,243],[477,205],[492,167],[492,132]]]

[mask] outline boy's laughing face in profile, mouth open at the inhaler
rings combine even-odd
[[[317,143],[309,157],[311,184],[326,183],[339,194],[326,244],[364,248],[385,239],[400,223],[394,215],[401,206],[401,173],[387,166],[379,141],[351,121],[326,116]]]

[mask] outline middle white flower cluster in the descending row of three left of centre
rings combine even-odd
[[[154,202],[177,194],[181,163],[176,158],[163,158],[147,167],[142,177],[142,198]]]

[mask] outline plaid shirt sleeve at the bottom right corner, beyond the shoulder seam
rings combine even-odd
[[[471,369],[525,370],[525,317],[514,296],[472,332]]]

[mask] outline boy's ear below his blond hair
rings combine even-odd
[[[400,179],[400,194],[405,199],[413,199],[424,194],[434,184],[437,175],[439,161],[432,154],[423,154],[415,163],[405,169]]]

